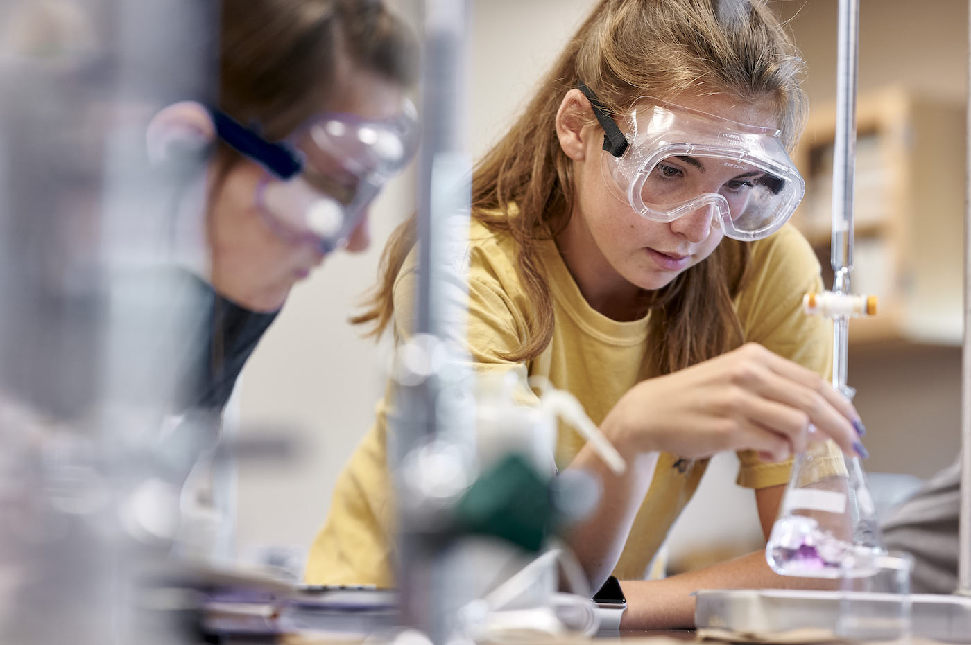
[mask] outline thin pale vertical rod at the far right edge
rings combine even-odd
[[[961,501],[957,594],[971,596],[971,2],[968,3],[967,157],[964,172],[964,340],[961,345]]]

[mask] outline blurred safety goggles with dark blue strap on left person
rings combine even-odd
[[[271,228],[321,253],[348,242],[367,206],[418,149],[418,114],[407,100],[385,120],[323,113],[274,143],[223,113],[214,120],[220,139],[266,170],[256,206]]]

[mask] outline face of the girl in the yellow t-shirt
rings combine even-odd
[[[773,126],[776,116],[767,102],[739,105],[722,94],[679,96],[677,103],[739,123]],[[659,289],[698,264],[719,245],[724,234],[713,221],[712,207],[703,207],[669,223],[646,219],[621,201],[608,187],[602,170],[603,131],[587,126],[577,149],[564,145],[574,161],[574,210],[557,239],[564,261],[594,308],[617,310],[606,302],[632,299],[639,290]],[[560,136],[563,145],[562,134]],[[579,154],[577,153],[579,152]],[[690,159],[677,163],[687,164]],[[707,169],[706,192],[726,192],[735,178],[730,169]],[[655,169],[664,176],[697,172],[695,168]]]

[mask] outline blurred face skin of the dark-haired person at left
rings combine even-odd
[[[404,93],[397,83],[346,62],[338,68],[333,98],[320,107],[321,112],[374,120],[398,115]],[[322,173],[325,169],[315,170]],[[306,278],[324,258],[318,243],[285,235],[279,223],[258,210],[257,187],[265,177],[265,171],[250,160],[233,166],[215,198],[209,225],[213,286],[224,297],[256,311],[283,306],[293,284]],[[365,210],[346,248],[358,252],[369,243]]]

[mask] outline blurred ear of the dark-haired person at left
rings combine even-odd
[[[195,101],[174,103],[156,113],[146,131],[149,160],[160,164],[179,152],[195,152],[216,141],[216,125],[205,106]]]

